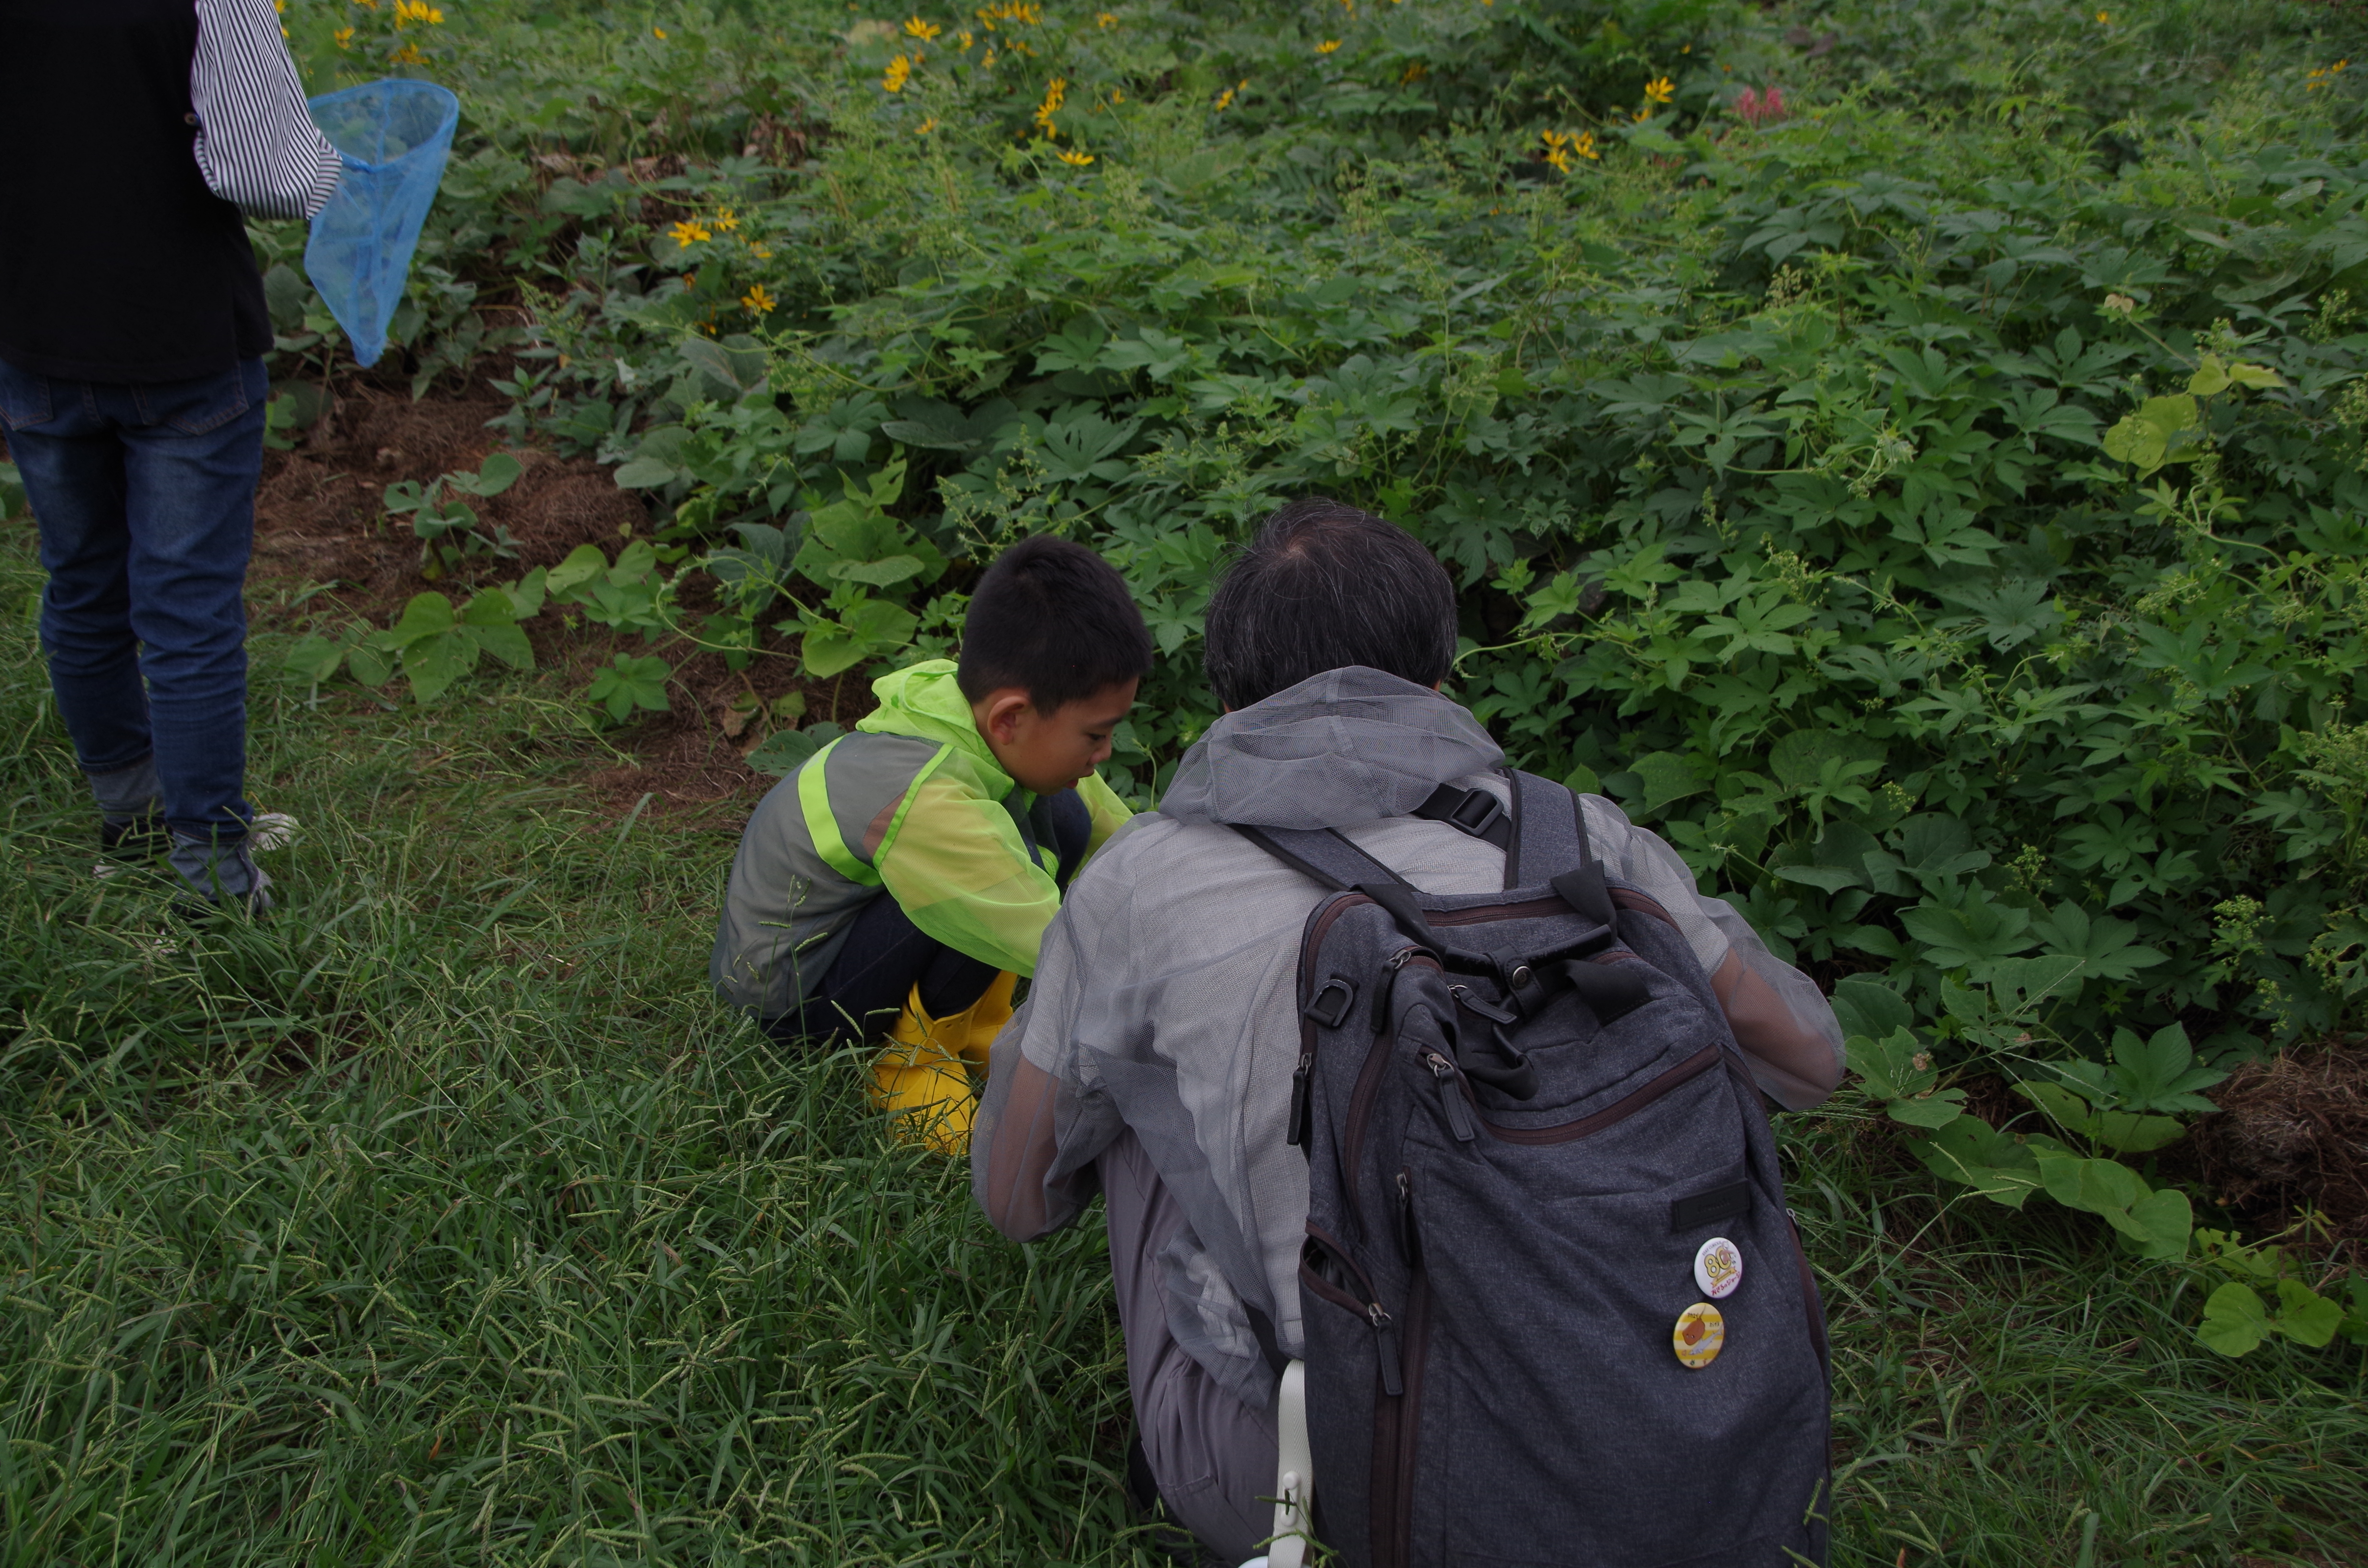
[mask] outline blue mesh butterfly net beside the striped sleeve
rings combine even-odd
[[[310,107],[346,171],[313,218],[303,270],[346,329],[353,358],[377,365],[452,152],[459,99],[436,83],[374,81],[324,92]]]

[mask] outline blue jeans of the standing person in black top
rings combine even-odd
[[[102,810],[137,815],[126,791],[140,782],[180,841],[237,843],[253,817],[239,590],[268,396],[263,360],[159,386],[0,362],[0,424],[50,573],[57,713]]]

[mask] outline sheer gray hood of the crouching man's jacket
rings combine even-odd
[[[1177,765],[1160,815],[1352,827],[1404,817],[1440,784],[1499,763],[1504,751],[1461,706],[1411,680],[1350,666],[1210,725]]]

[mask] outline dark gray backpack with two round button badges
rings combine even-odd
[[[1347,1568],[1826,1561],[1828,1364],[1776,1142],[1669,914],[1577,796],[1442,786],[1506,850],[1433,898],[1333,831],[1291,1142],[1314,1535]]]

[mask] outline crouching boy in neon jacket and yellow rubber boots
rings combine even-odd
[[[969,1146],[969,1068],[1011,1016],[1061,888],[1127,820],[1094,775],[1151,670],[1125,580],[1030,538],[971,595],[959,663],[871,685],[879,708],[781,779],[732,860],[708,973],[786,1042],[874,1040],[900,1135]]]

